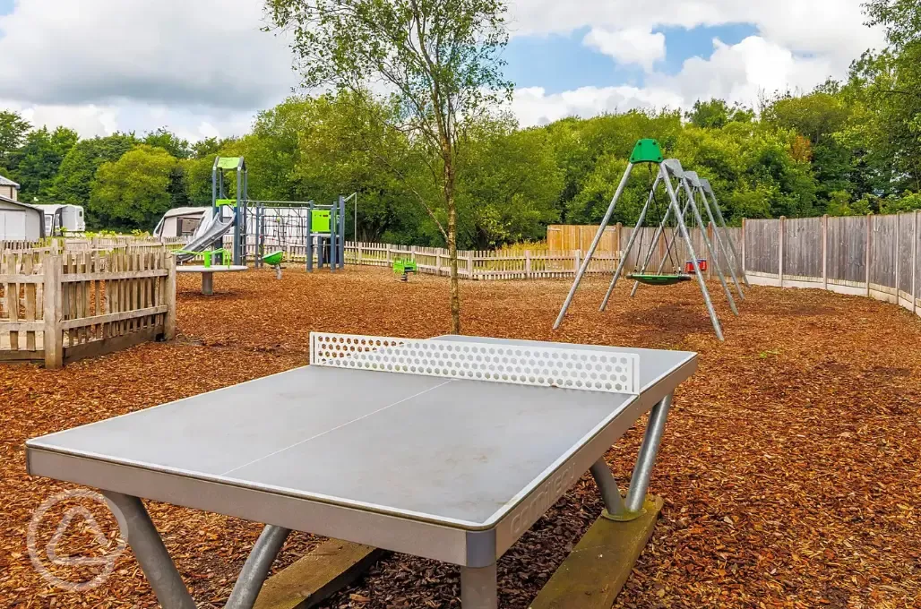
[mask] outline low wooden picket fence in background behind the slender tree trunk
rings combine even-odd
[[[583,253],[458,251],[458,275],[463,279],[553,279],[575,276]],[[391,266],[396,260],[412,260],[420,273],[450,275],[448,250],[444,248],[392,245],[389,243],[345,242],[345,263]],[[596,254],[588,273],[613,273],[620,260],[618,253]]]

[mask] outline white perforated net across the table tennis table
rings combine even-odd
[[[634,353],[310,333],[310,363],[448,379],[639,393]]]

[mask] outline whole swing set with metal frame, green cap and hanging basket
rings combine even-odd
[[[729,289],[727,275],[731,275],[733,282],[739,292],[740,299],[745,299],[737,275],[742,276],[746,286],[748,279],[745,277],[744,270],[741,269],[735,245],[729,237],[729,230],[726,227],[726,221],[723,219],[722,212],[717,205],[716,196],[709,182],[702,181],[693,171],[685,172],[682,169],[681,162],[676,158],[664,158],[661,147],[656,140],[643,139],[636,143],[633,154],[630,156],[630,162],[624,170],[624,176],[617,187],[616,193],[608,206],[608,211],[601,220],[601,226],[595,239],[589,246],[589,252],[579,266],[576,274],[576,280],[569,289],[563,308],[554,322],[554,330],[560,327],[566,314],[572,304],[573,297],[576,294],[582,275],[585,275],[589,268],[591,257],[598,248],[604,229],[611,221],[614,207],[618,200],[624,194],[624,189],[630,180],[630,175],[636,165],[646,164],[649,166],[650,178],[655,171],[653,167],[658,167],[655,180],[649,188],[646,204],[643,205],[639,214],[636,226],[630,235],[627,246],[621,254],[620,263],[608,287],[608,291],[601,302],[600,310],[605,310],[608,302],[612,297],[614,287],[622,275],[624,275],[624,266],[631,259],[631,253],[636,252],[636,264],[633,273],[625,275],[627,279],[634,282],[634,287],[630,296],[634,297],[640,284],[647,286],[673,286],[684,281],[691,281],[696,278],[700,286],[701,294],[704,297],[707,313],[710,321],[713,323],[714,332],[719,340],[723,340],[723,330],[714,309],[713,301],[710,299],[709,290],[706,287],[704,272],[708,269],[709,261],[712,261],[713,269],[719,279],[723,293],[729,302],[729,309],[733,314],[739,315],[735,299]],[[668,200],[660,202],[659,191],[664,187]],[[709,195],[709,198],[708,198]],[[701,215],[701,209],[705,210],[707,219],[716,228],[715,238],[716,247],[707,235],[706,225]],[[716,210],[717,216],[714,216]],[[719,218],[720,224],[717,224]],[[644,240],[646,239],[647,226],[657,226],[652,240],[644,252]],[[705,246],[705,258],[700,258],[694,251],[694,243],[691,239],[691,231],[694,228],[699,229]],[[658,268],[653,271],[650,268],[655,252],[659,249],[659,244],[664,240],[664,255],[659,263]],[[636,246],[636,248],[635,248]],[[729,265],[729,274],[724,273],[718,254],[723,256],[723,260]],[[683,264],[682,264],[683,263]],[[667,267],[666,264],[669,264]]]

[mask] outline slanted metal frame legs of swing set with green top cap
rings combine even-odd
[[[650,154],[650,150],[652,149],[658,152],[658,154],[654,154],[654,153]],[[691,263],[694,266],[694,276],[697,279],[697,284],[700,287],[702,296],[704,297],[704,303],[706,306],[707,314],[710,317],[710,322],[713,324],[713,329],[714,329],[715,334],[717,334],[717,338],[720,341],[722,341],[724,340],[722,325],[720,324],[719,318],[717,317],[717,311],[713,306],[713,300],[710,298],[710,292],[706,287],[706,282],[704,279],[704,275],[701,272],[700,264],[698,264],[697,262],[697,254],[696,252],[694,252],[694,243],[691,240],[691,234],[688,231],[687,224],[685,222],[685,217],[689,209],[693,212],[694,219],[696,220],[697,225],[700,227],[705,227],[703,218],[701,217],[700,210],[698,209],[696,205],[696,198],[694,197],[694,193],[691,189],[691,184],[688,182],[686,178],[686,174],[684,170],[682,169],[681,161],[679,161],[677,158],[669,158],[669,159],[662,158],[659,144],[655,142],[655,140],[640,140],[639,142],[636,143],[634,154],[631,156],[630,162],[627,164],[626,170],[624,170],[624,176],[621,178],[621,182],[617,186],[617,191],[614,193],[614,196],[611,200],[611,204],[608,205],[608,210],[601,220],[601,224],[598,229],[598,232],[595,234],[595,238],[594,240],[592,240],[591,245],[589,246],[589,252],[586,253],[585,259],[582,261],[582,264],[579,266],[579,269],[576,274],[576,279],[575,281],[573,281],[572,287],[569,288],[569,293],[566,295],[566,299],[565,299],[565,302],[563,303],[563,307],[560,310],[559,315],[556,318],[556,321],[554,322],[554,330],[558,329],[560,325],[563,323],[566,311],[569,309],[569,306],[572,304],[572,300],[576,295],[576,290],[578,289],[579,283],[582,281],[582,276],[585,275],[586,271],[588,270],[589,264],[591,263],[591,258],[594,255],[595,250],[598,248],[598,244],[600,243],[601,237],[604,234],[604,230],[605,228],[607,228],[608,224],[611,222],[611,217],[613,215],[614,208],[616,207],[617,202],[620,200],[621,196],[624,194],[624,188],[626,187],[627,182],[629,182],[630,180],[630,175],[633,172],[635,165],[638,165],[641,163],[651,163],[651,164],[658,165],[659,173],[656,177],[655,182],[653,182],[652,188],[649,191],[649,195],[647,196],[646,204],[643,205],[643,209],[640,212],[638,220],[636,221],[636,226],[630,235],[630,239],[627,241],[627,246],[624,249],[624,252],[622,252],[621,254],[620,263],[617,265],[617,270],[614,272],[614,276],[612,278],[611,285],[610,287],[608,287],[608,291],[605,294],[603,301],[601,302],[600,310],[603,311],[607,308],[608,302],[611,299],[614,287],[616,287],[618,279],[620,279],[621,275],[623,275],[624,273],[624,265],[626,264],[626,261],[630,257],[630,252],[632,252],[633,250],[636,236],[639,233],[638,229],[643,228],[645,225],[647,213],[654,199],[656,189],[659,187],[661,183],[664,183],[666,191],[669,195],[669,205],[666,211],[666,215],[665,217],[662,218],[662,222],[659,224],[659,228],[656,231],[656,236],[653,237],[653,241],[658,242],[658,240],[662,237],[664,233],[666,221],[668,220],[670,215],[674,215],[675,223],[676,223],[676,226],[679,232],[679,235],[677,237],[680,237],[684,241],[685,246],[687,247],[687,252],[689,253],[691,257]],[[683,193],[682,195],[682,198],[684,199],[683,210],[682,210],[682,205],[679,204],[678,191],[675,186],[676,183],[678,184],[678,187],[681,189],[681,192]],[[709,238],[707,237],[705,228],[701,232],[704,238],[706,251],[710,259],[714,261],[714,269],[716,270],[720,284],[723,287],[723,292],[726,295],[727,300],[729,301],[729,308],[732,310],[732,312],[735,315],[738,315],[739,310],[736,308],[735,300],[732,298],[732,293],[729,291],[729,286],[727,285],[726,277],[725,275],[723,275],[718,259],[714,255],[713,244],[710,242]],[[677,237],[676,239],[673,239],[672,241],[677,240]],[[652,251],[650,250],[650,252],[647,255],[647,259],[644,262],[644,265],[642,267],[643,271],[646,270],[649,262],[651,261],[651,252]],[[662,261],[662,265],[664,265],[664,259]],[[661,270],[659,271],[659,273],[661,273]],[[636,282],[632,294],[635,294],[635,291],[638,288],[638,286],[639,286],[639,283]]]

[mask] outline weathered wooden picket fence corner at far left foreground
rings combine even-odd
[[[169,252],[3,253],[0,361],[46,368],[170,339],[176,263]]]

